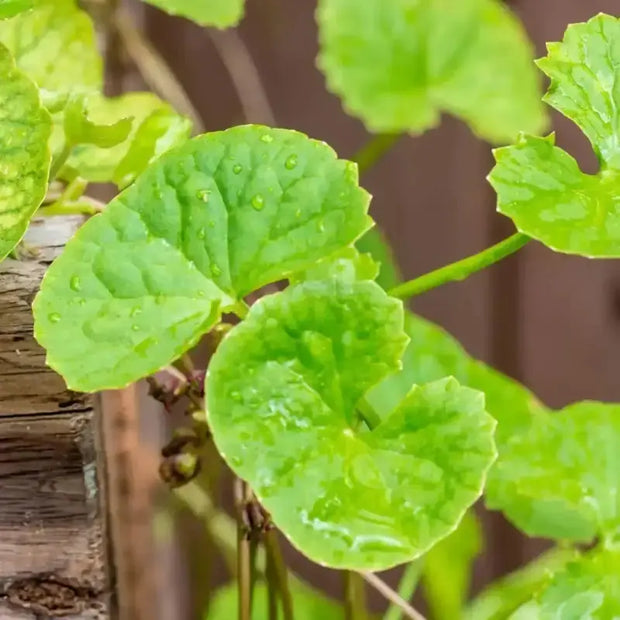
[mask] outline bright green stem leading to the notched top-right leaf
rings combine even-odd
[[[517,250],[520,250],[528,241],[530,237],[523,233],[515,233],[511,237],[500,241],[499,243],[474,254],[468,256],[456,263],[451,263],[435,271],[424,274],[419,278],[414,278],[403,284],[399,284],[389,294],[393,297],[399,297],[400,299],[407,299],[408,297],[415,297],[426,291],[430,291],[433,288],[437,288],[447,282],[456,282],[464,280],[472,273],[476,273],[493,265],[498,261],[514,254]]]

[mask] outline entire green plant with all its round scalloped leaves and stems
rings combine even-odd
[[[243,13],[242,0],[149,2],[220,28]],[[453,114],[502,145],[489,180],[518,232],[403,282],[355,163],[289,129],[189,139],[191,122],[157,96],[103,94],[75,0],[0,0],[0,256],[34,215],[95,214],[34,302],[47,363],[82,392],[171,369],[152,392],[188,397],[194,423],[164,449],[162,474],[182,492],[213,442],[239,479],[238,586],[209,617],[238,606],[247,620],[252,602],[254,617],[340,617],[287,579],[274,528],[349,571],[350,592],[363,575],[395,604],[389,620],[421,617],[406,603],[419,579],[438,619],[620,617],[620,405],[551,411],[402,303],[531,239],[620,257],[620,19],[595,16],[548,45],[541,101],[530,44],[498,0],[318,5],[328,88],[377,132],[364,164]],[[597,174],[540,135],[543,101],[589,139]],[[86,194],[101,182],[119,189],[105,208]],[[186,356],[205,334],[206,372]],[[481,496],[557,547],[466,604]],[[258,540],[265,557],[247,552]],[[372,573],[399,564],[400,594]],[[348,617],[363,617],[351,599]]]

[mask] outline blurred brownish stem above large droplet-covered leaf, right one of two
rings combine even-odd
[[[243,115],[249,123],[275,125],[275,114],[252,54],[236,30],[209,30],[211,42],[228,71]]]

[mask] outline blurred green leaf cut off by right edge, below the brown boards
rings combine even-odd
[[[500,446],[486,489],[529,536],[589,541],[620,528],[620,405],[540,414]]]

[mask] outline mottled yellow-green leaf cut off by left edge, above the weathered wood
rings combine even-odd
[[[47,191],[49,114],[0,45],[0,260],[20,241]]]

